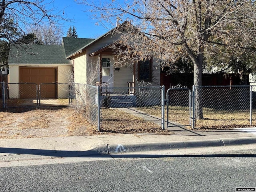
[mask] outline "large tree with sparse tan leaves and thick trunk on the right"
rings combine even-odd
[[[89,2],[101,22],[128,21],[119,30],[119,56],[129,59],[154,56],[166,64],[189,57],[194,64],[194,85],[202,85],[203,60],[215,46],[255,50],[256,3],[254,0],[106,0]],[[124,49],[125,47],[126,49]],[[119,57],[120,58],[120,57]],[[203,118],[200,92],[196,117]]]

